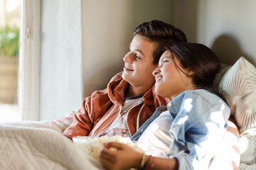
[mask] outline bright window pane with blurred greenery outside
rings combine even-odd
[[[18,37],[21,0],[0,0],[0,121],[20,120]]]

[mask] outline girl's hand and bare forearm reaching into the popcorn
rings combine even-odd
[[[116,148],[116,150],[112,148]],[[117,142],[105,144],[100,154],[100,160],[106,169],[140,169],[142,157],[142,153],[136,152],[131,147]],[[144,169],[178,169],[178,160],[146,155]]]

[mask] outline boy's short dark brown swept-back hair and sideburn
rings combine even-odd
[[[181,29],[158,20],[140,24],[134,30],[133,36],[135,35],[142,35],[149,41],[156,43],[153,52],[154,64],[158,64],[166,46],[172,42],[187,42],[186,35]]]

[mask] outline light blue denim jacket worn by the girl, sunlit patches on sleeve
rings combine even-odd
[[[228,129],[230,108],[209,91],[184,91],[167,107],[157,108],[132,140],[138,140],[149,124],[167,109],[174,118],[169,130],[174,142],[169,147],[168,157],[178,159],[178,169],[208,169]]]

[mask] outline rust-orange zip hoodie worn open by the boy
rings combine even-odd
[[[107,89],[95,91],[92,96],[82,101],[80,110],[73,116],[73,123],[63,132],[72,139],[75,136],[99,136],[110,127],[122,110],[124,90],[129,83],[124,79],[117,79],[107,85]],[[146,91],[142,100],[134,105],[127,113],[127,125],[130,135],[154,113],[157,107],[166,106],[169,98],[163,98],[154,93],[153,88]],[[139,122],[139,125],[137,125]]]

